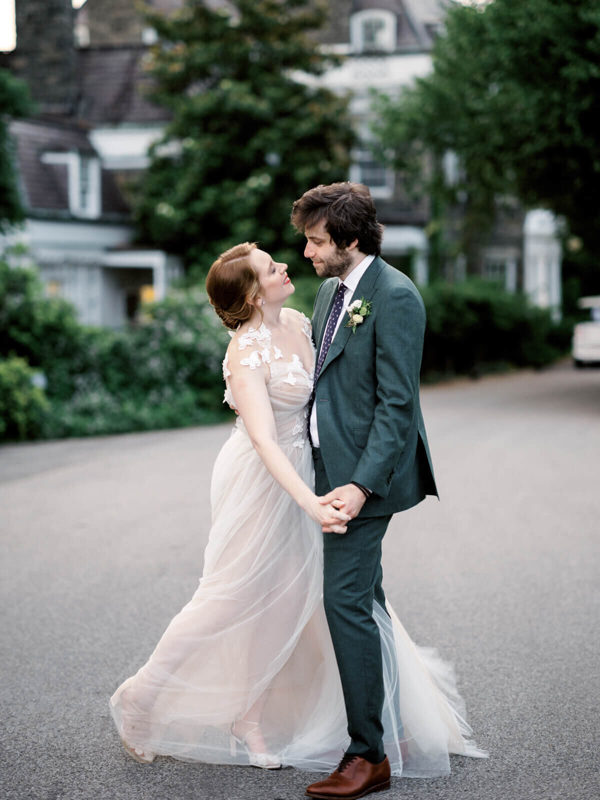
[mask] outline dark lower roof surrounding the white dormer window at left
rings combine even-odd
[[[69,213],[68,170],[65,164],[45,164],[43,153],[77,150],[97,155],[86,130],[65,122],[15,120],[10,123],[15,142],[23,202],[31,211]],[[129,208],[114,176],[102,170],[102,215],[128,214]]]

